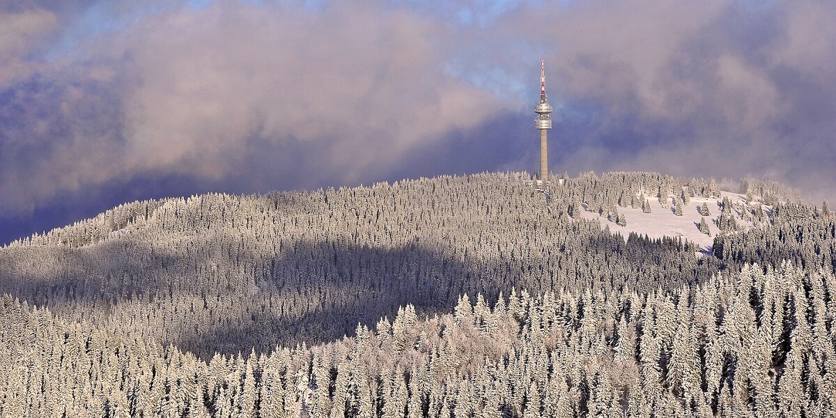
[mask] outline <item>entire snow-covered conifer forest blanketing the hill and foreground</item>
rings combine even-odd
[[[836,414],[827,202],[528,180],[137,201],[0,247],[0,415]],[[614,232],[651,207],[713,244]]]

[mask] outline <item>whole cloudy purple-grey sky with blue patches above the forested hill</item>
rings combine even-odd
[[[836,12],[794,0],[0,0],[0,243],[125,201],[534,171],[836,196]]]

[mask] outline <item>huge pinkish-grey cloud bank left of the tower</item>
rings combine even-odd
[[[0,212],[133,176],[350,183],[502,109],[443,72],[443,25],[359,4],[171,8],[7,89],[0,117],[25,126],[0,131]]]

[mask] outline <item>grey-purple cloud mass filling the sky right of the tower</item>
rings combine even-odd
[[[567,112],[599,109],[598,125],[566,138],[580,144],[568,165],[771,177],[822,199],[836,175],[829,10],[813,0],[527,5],[482,34],[529,39],[547,59],[550,97]]]

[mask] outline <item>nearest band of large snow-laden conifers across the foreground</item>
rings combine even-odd
[[[330,344],[203,361],[0,298],[5,416],[828,416],[836,279],[466,295]]]

